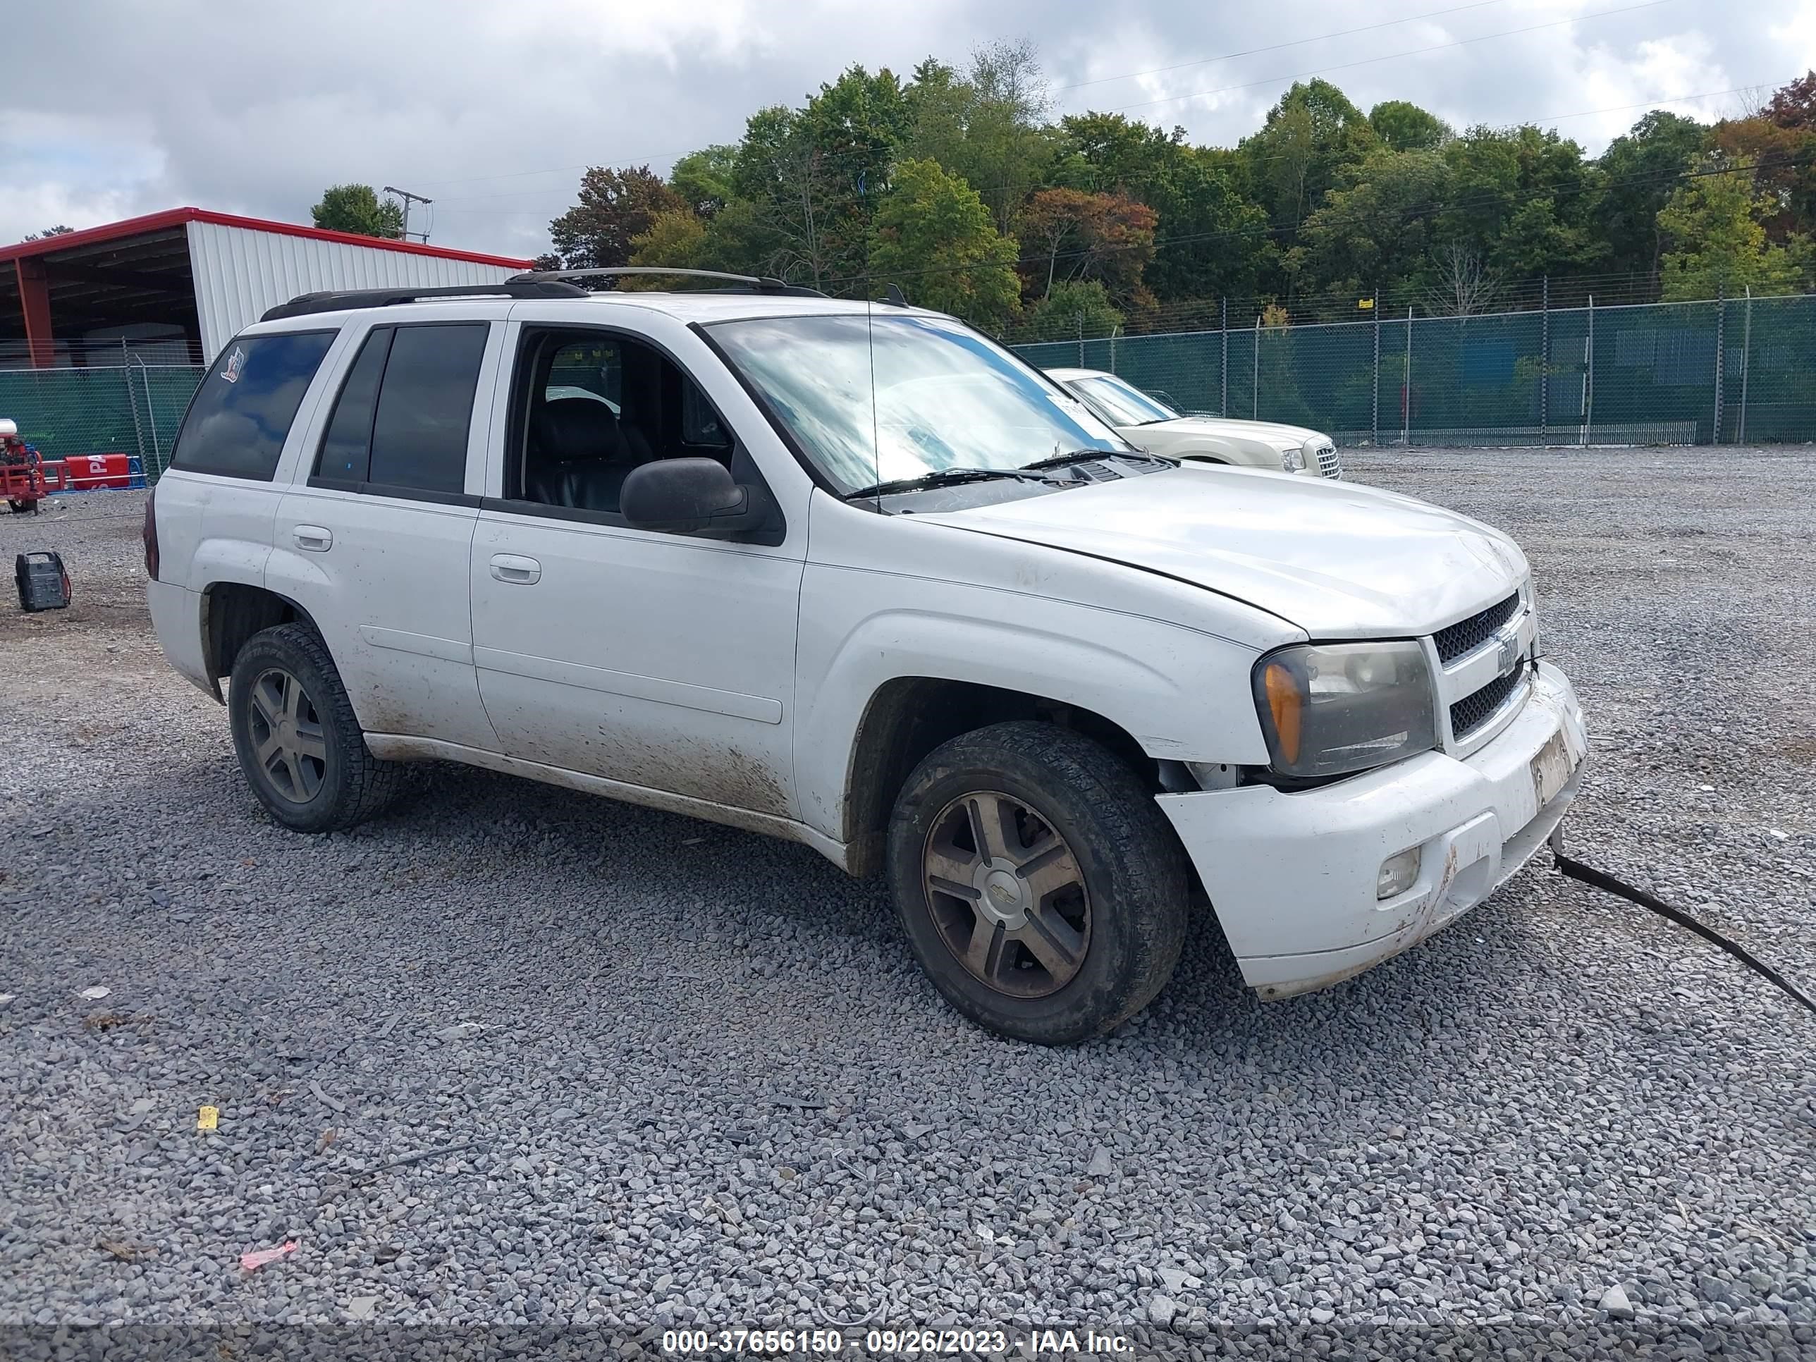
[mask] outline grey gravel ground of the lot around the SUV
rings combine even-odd
[[[1596,737],[1571,850],[1816,982],[1811,452],[1347,456],[1525,545]],[[0,605],[15,1355],[677,1322],[1816,1351],[1816,1019],[1645,912],[1531,866],[1266,1006],[1200,926],[1117,1037],[993,1041],[799,846],[459,768],[350,835],[274,826],[162,663],[138,510],[0,516],[0,561],[56,547],[76,587]]]

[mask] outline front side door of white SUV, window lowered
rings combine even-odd
[[[523,321],[507,347],[507,409],[494,419],[505,438],[469,572],[499,750],[795,817],[804,516],[757,543],[639,530],[617,512],[623,476],[654,459],[721,458],[741,481],[763,476],[719,414],[735,380],[679,325],[657,341]]]

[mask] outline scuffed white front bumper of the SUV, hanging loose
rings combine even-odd
[[[1535,759],[1553,739],[1567,779],[1540,806]],[[1398,955],[1500,888],[1564,817],[1587,752],[1576,692],[1540,663],[1525,708],[1469,757],[1427,752],[1298,794],[1251,785],[1159,804],[1242,977],[1262,997],[1289,997]],[[1554,781],[1556,761],[1549,768]],[[1422,848],[1418,879],[1377,899],[1382,861],[1411,846]]]

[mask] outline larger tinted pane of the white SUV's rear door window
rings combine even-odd
[[[398,327],[372,421],[367,481],[423,492],[467,483],[467,427],[487,323]]]

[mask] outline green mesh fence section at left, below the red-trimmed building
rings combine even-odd
[[[0,370],[0,418],[47,459],[129,454],[149,481],[171,463],[202,365]]]

